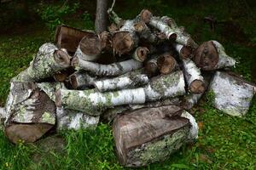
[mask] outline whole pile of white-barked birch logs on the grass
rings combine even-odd
[[[55,44],[44,43],[11,80],[2,111],[11,142],[96,127],[101,117],[113,121],[120,163],[138,167],[197,138],[188,111],[207,89],[219,110],[246,114],[255,86],[227,71],[236,60],[219,42],[198,45],[175,20],[147,9],[133,20],[108,14],[113,23],[100,34],[58,26]]]

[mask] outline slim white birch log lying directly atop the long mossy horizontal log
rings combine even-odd
[[[135,77],[115,77],[112,79],[99,80],[93,82],[93,85],[100,92],[106,92],[125,88],[137,88],[147,83],[148,77],[146,75],[137,75]]]

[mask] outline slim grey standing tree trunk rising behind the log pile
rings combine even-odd
[[[107,30],[108,25],[108,0],[97,0],[95,29],[99,34]]]

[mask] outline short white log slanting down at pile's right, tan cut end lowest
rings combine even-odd
[[[188,84],[189,92],[201,94],[205,91],[204,78],[201,71],[191,59],[183,59],[183,73]]]

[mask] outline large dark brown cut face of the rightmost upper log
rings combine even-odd
[[[194,55],[195,65],[203,70],[212,70],[218,64],[218,51],[212,41],[203,42]]]

